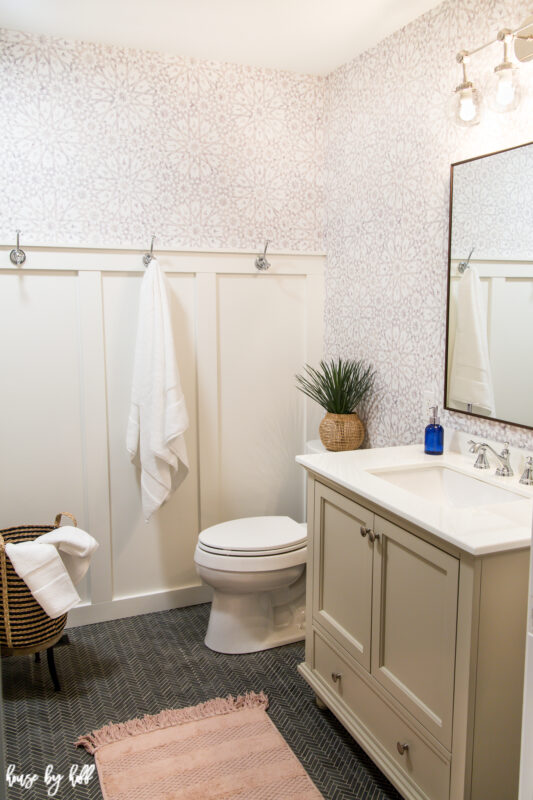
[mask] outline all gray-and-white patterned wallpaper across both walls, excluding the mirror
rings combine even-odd
[[[21,227],[27,244],[144,248],[155,232],[160,248],[309,252],[325,197],[326,351],[378,371],[371,445],[420,441],[422,392],[443,396],[450,163],[533,132],[531,94],[454,126],[455,54],[528,2],[447,0],[325,81],[3,31],[0,240]],[[499,60],[476,56],[472,79]],[[533,446],[513,426],[444,419]]]

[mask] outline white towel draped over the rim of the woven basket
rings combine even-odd
[[[74,584],[89,569],[97,547],[89,533],[64,525],[32,542],[8,543],[6,554],[37,602],[56,619],[80,602]]]

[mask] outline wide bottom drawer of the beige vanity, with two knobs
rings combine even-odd
[[[421,789],[422,797],[448,800],[450,761],[401,719],[369,683],[359,677],[349,661],[339,656],[316,632],[313,669],[386,751],[387,763],[380,763],[379,752],[373,752],[372,742],[361,737],[361,744],[368,745],[369,755],[384,771],[393,762],[396,769]],[[408,747],[400,754],[398,745],[405,744]],[[391,778],[394,778],[392,774]]]

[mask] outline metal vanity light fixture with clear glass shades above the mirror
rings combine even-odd
[[[466,64],[470,57],[484,50],[495,42],[503,43],[503,61],[495,67],[488,82],[489,107],[498,112],[514,111],[521,98],[519,70],[509,59],[509,44],[514,41],[515,56],[518,61],[533,60],[533,17],[515,30],[503,28],[495,39],[482,44],[475,50],[461,50],[457,54],[457,62],[463,68],[463,82],[456,88],[451,100],[451,110],[457,125],[470,127],[477,125],[481,117],[481,93],[476,89],[466,74]]]

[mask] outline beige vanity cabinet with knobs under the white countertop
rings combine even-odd
[[[388,516],[310,476],[300,672],[405,798],[515,800],[528,551]]]

